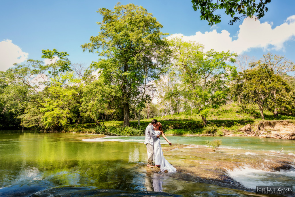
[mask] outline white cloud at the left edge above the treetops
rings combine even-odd
[[[19,46],[12,43],[12,40],[0,42],[0,71],[6,71],[14,63],[21,63],[27,60],[29,53],[22,51]]]

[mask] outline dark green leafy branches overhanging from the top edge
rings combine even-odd
[[[257,13],[256,19],[264,17],[264,12],[268,11],[266,4],[270,3],[271,0],[192,0],[193,8],[195,11],[200,10],[201,20],[207,20],[209,25],[212,26],[216,23],[221,22],[220,14],[214,14],[218,9],[224,9],[224,13],[230,15],[233,19],[230,20],[229,24],[233,25],[237,20],[242,18],[252,17]],[[240,16],[237,16],[240,14]]]

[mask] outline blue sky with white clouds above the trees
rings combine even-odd
[[[112,0],[51,0],[0,2],[0,71],[24,64],[28,59],[43,60],[42,49],[57,49],[69,54],[72,63],[84,64],[98,60],[96,53],[83,52],[81,45],[100,31],[96,22],[102,17],[99,8],[114,9]],[[200,20],[191,1],[129,0],[121,5],[143,6],[163,25],[162,32],[196,41],[205,50],[246,54],[255,59],[271,52],[295,62],[295,1],[273,0],[268,12],[259,20],[247,18],[228,25],[231,17],[222,14],[221,22],[209,26]],[[43,60],[44,61],[44,60]]]

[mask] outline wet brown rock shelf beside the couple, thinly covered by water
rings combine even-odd
[[[148,171],[223,187],[247,189],[231,178],[227,171],[236,168],[252,168],[268,172],[295,170],[295,156],[267,151],[217,149],[212,152],[204,146],[162,146],[165,158],[177,169],[176,173],[160,172],[158,167],[146,167]]]

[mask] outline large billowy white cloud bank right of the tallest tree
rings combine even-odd
[[[204,45],[204,50],[209,51],[228,51],[241,54],[249,51],[251,48],[263,48],[263,50],[282,50],[284,43],[295,36],[295,15],[286,19],[286,21],[277,26],[272,27],[272,22],[260,23],[259,20],[252,18],[244,19],[239,26],[237,39],[233,40],[227,30],[218,33],[217,30],[211,32],[196,32],[192,36],[183,36],[183,34],[173,34],[168,39],[182,37],[184,41],[195,41]]]

